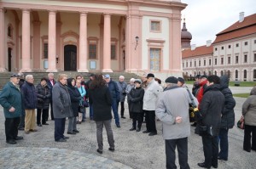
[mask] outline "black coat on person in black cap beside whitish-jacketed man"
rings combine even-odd
[[[128,94],[130,98],[130,111],[133,113],[143,113],[144,89],[142,87],[132,88]]]

